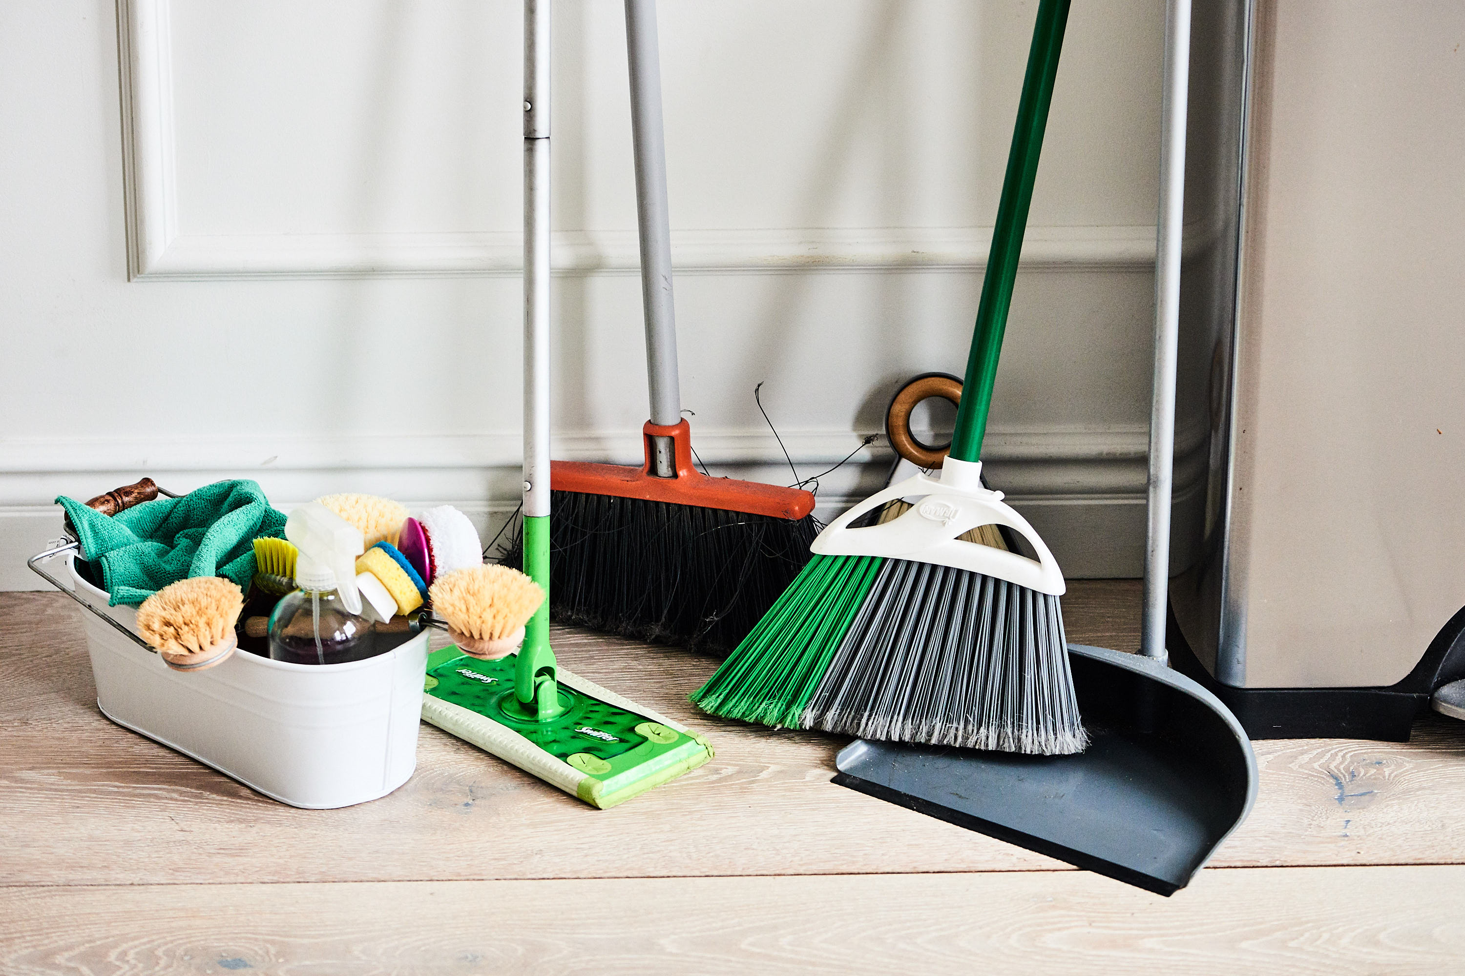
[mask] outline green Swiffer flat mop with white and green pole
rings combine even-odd
[[[549,0],[524,0],[524,572],[549,588]],[[712,758],[706,739],[561,670],[541,604],[517,654],[428,658],[422,717],[571,796],[615,806]]]

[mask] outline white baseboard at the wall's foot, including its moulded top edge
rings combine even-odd
[[[781,432],[797,477],[848,462],[819,483],[828,521],[883,484],[889,449],[851,430]],[[636,464],[639,430],[557,436],[554,457]],[[1144,547],[1141,429],[1014,429],[987,435],[990,483],[1008,493],[1071,578],[1137,577]],[[787,484],[788,461],[768,430],[699,430],[713,476]],[[369,492],[409,508],[451,503],[491,537],[516,509],[517,433],[221,438],[9,438],[0,440],[0,590],[44,588],[25,568],[60,534],[57,495],[86,499],[148,474],[188,492],[221,478],[259,481],[289,509],[328,492]],[[486,541],[486,537],[485,537]]]

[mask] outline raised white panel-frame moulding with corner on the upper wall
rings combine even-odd
[[[221,278],[517,277],[517,230],[420,234],[189,234],[180,231],[170,0],[117,0],[123,91],[127,274]],[[990,227],[672,231],[681,274],[977,271]],[[558,275],[630,275],[634,230],[554,237]],[[1027,271],[1149,269],[1154,227],[1030,227]]]

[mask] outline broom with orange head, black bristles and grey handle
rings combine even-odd
[[[650,420],[645,464],[551,465],[557,619],[725,654],[809,559],[815,496],[708,477],[681,417],[655,0],[626,0]],[[511,556],[510,556],[511,558]]]

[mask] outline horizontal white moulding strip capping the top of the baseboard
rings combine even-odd
[[[1176,490],[1188,490],[1204,480],[1206,435],[1204,429],[1179,433]],[[768,468],[763,476],[768,481],[787,481],[790,461],[800,474],[810,474],[848,458],[850,471],[835,480],[853,484],[856,478],[847,476],[864,465],[883,468],[894,457],[879,432],[784,429],[779,438],[782,445],[768,427],[694,432],[697,457],[705,464],[725,468],[721,474]],[[866,438],[872,442],[861,446]],[[561,432],[552,436],[551,451],[563,461],[639,465],[640,430]],[[347,477],[353,480],[390,474],[397,483],[410,483],[412,478],[461,481],[472,476],[483,486],[475,492],[482,502],[483,492],[488,492],[482,478],[492,474],[517,486],[514,471],[522,458],[519,432],[0,438],[0,505],[50,503],[56,492],[34,487],[48,480],[70,483],[78,476],[130,471],[218,477],[292,474],[299,476],[297,480],[315,480],[316,476],[328,480],[331,473],[350,473]],[[1149,478],[1147,458],[1149,430],[1143,426],[995,426],[987,429],[983,442],[983,462],[998,487],[1028,500],[1143,498]],[[322,490],[340,489],[327,484]],[[517,487],[510,495],[514,492]]]

